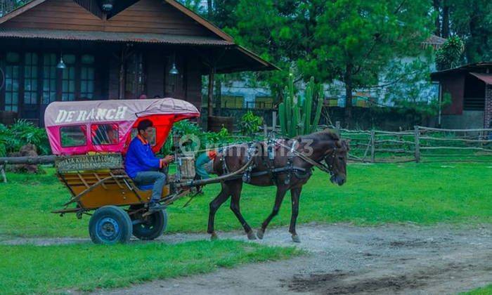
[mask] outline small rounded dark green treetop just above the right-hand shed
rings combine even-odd
[[[447,70],[462,64],[465,44],[458,36],[450,37],[436,52],[437,70]]]

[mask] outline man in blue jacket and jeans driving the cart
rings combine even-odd
[[[124,169],[137,185],[153,184],[152,199],[148,207],[150,211],[162,209],[157,201],[161,199],[162,189],[166,184],[166,175],[159,170],[174,161],[173,156],[164,159],[155,157],[148,140],[152,136],[153,124],[150,120],[142,120],[137,126],[138,135],[131,140]]]

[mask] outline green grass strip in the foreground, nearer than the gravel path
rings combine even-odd
[[[149,280],[207,273],[218,267],[278,260],[302,251],[231,240],[110,247],[0,246],[2,294],[66,293],[125,287]]]

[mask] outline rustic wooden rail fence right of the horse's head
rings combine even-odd
[[[407,131],[350,131],[350,159],[356,162],[491,162],[492,129],[436,129],[415,126]]]

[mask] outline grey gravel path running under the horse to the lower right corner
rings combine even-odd
[[[455,294],[492,283],[492,225],[347,224],[298,227],[300,244],[286,228],[268,230],[261,244],[309,252],[287,261],[242,265],[214,273],[158,280],[98,294]],[[221,238],[246,240],[240,232]],[[208,238],[164,235],[162,242]],[[87,239],[15,239],[1,244],[70,244]]]

